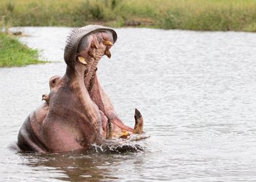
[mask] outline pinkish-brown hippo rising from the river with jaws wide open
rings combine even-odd
[[[111,57],[117,38],[113,29],[100,25],[72,29],[64,50],[66,72],[50,78],[50,94],[43,94],[44,103],[25,119],[18,133],[21,151],[108,148],[149,137],[137,109],[133,128],[118,118],[97,78],[97,64],[104,55]]]

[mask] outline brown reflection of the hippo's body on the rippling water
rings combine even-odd
[[[65,153],[47,155],[24,155],[27,165],[40,170],[52,170],[61,174],[56,179],[63,181],[89,181],[95,179],[118,179],[111,176],[108,168],[119,162],[116,155],[110,153]],[[30,160],[33,158],[33,160]],[[30,161],[29,161],[30,160]]]

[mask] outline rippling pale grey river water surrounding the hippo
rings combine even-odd
[[[70,28],[20,30],[53,62],[0,69],[1,181],[256,181],[256,34],[116,29],[99,81],[127,125],[142,113],[144,151],[42,155],[8,144],[65,72]]]

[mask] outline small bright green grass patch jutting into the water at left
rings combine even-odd
[[[39,51],[21,44],[16,38],[0,32],[0,67],[25,66],[45,61],[38,60]]]

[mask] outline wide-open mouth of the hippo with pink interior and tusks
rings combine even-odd
[[[73,31],[74,34],[82,31]],[[69,46],[73,36],[69,37],[67,46]],[[80,66],[84,66],[84,86],[93,101],[99,107],[101,113],[101,122],[103,126],[103,136],[108,140],[104,140],[104,143],[113,145],[121,144],[127,140],[140,140],[147,138],[146,135],[141,135],[143,132],[143,119],[140,112],[135,109],[135,127],[131,129],[124,125],[121,120],[114,113],[114,108],[110,103],[110,100],[104,94],[103,89],[99,85],[97,80],[97,64],[99,60],[106,55],[108,59],[111,58],[110,48],[116,42],[117,35],[112,29],[98,29],[86,34],[79,41],[78,49],[76,51],[76,62],[79,62]],[[78,69],[77,69],[78,70]],[[82,72],[83,70],[81,70]],[[140,134],[140,135],[136,135]],[[118,138],[122,138],[118,140]],[[110,139],[114,139],[110,142]]]

